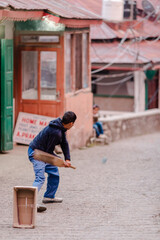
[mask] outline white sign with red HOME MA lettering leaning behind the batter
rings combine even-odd
[[[54,118],[20,112],[14,130],[13,141],[29,145],[33,138]]]

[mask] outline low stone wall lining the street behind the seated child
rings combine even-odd
[[[160,131],[160,109],[101,117],[109,142]]]

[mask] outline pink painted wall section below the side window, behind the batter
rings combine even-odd
[[[86,90],[65,96],[65,111],[73,111],[77,115],[74,127],[67,133],[71,149],[85,146],[92,134],[92,106],[93,95]]]

